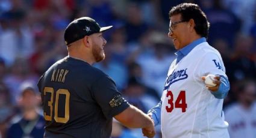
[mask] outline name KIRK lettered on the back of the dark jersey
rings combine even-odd
[[[52,82],[65,82],[65,78],[69,70],[55,68],[52,72]]]

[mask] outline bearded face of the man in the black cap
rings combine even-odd
[[[105,59],[105,53],[104,53],[103,47],[105,46],[107,41],[102,36],[102,32],[92,34],[92,40],[93,40],[92,53],[95,58],[95,61],[96,62],[102,61],[103,59]]]

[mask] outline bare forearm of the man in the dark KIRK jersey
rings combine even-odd
[[[154,125],[154,122],[148,115],[132,105],[119,115],[114,116],[114,118],[125,125],[125,127],[130,128],[145,128]]]

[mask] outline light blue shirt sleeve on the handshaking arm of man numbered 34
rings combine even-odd
[[[160,101],[157,106],[153,107],[148,111],[148,115],[154,120],[155,126],[161,124],[161,107],[162,101]]]

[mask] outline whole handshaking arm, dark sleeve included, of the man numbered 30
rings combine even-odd
[[[116,85],[110,77],[100,77],[92,88],[93,98],[101,107],[106,118],[114,117],[126,127],[145,128],[149,137],[155,135],[152,119],[141,110],[130,105],[117,91]]]

